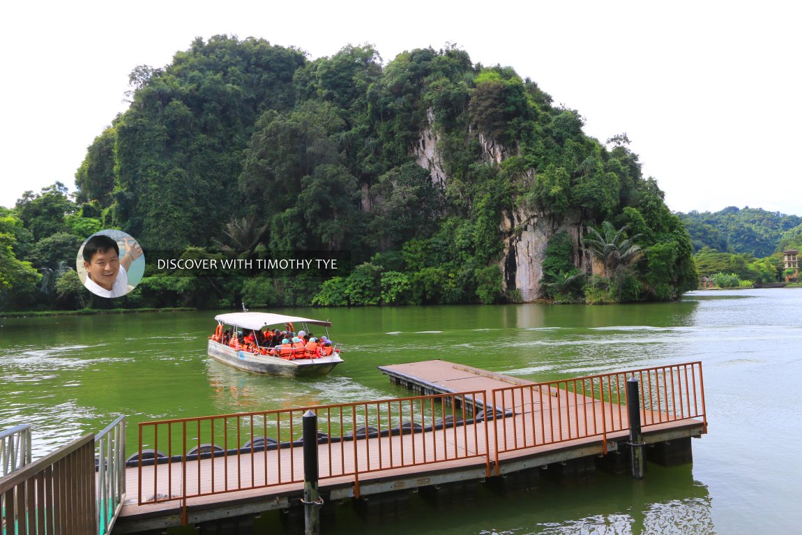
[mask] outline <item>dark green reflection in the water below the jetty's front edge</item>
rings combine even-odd
[[[560,484],[540,477],[528,491],[493,491],[480,484],[476,493],[451,501],[415,495],[398,521],[340,514],[333,533],[491,535],[711,535],[711,496],[693,480],[691,468],[649,467],[644,480],[597,472],[588,484]],[[545,471],[541,471],[545,474]]]

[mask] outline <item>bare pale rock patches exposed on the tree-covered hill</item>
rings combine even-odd
[[[443,158],[437,150],[437,133],[433,128],[434,111],[427,112],[428,124],[420,133],[413,156],[421,167],[431,172],[431,181],[435,186],[445,188],[448,176],[443,169]],[[482,147],[482,160],[500,164],[508,156],[514,156],[510,149],[496,141],[479,135]],[[525,187],[531,187],[535,174],[530,170],[520,177]],[[555,221],[553,217],[542,213],[515,209],[512,213],[504,213],[499,225],[504,241],[504,253],[499,263],[503,274],[503,288],[508,295],[517,293],[524,302],[544,297],[540,280],[543,278],[543,258],[549,238],[565,231],[573,242],[574,265],[589,269],[589,261],[581,254],[581,217],[579,213],[569,213]]]

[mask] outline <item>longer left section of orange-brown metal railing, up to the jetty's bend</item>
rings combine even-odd
[[[139,425],[140,505],[302,483],[302,416],[318,416],[318,479],[484,456],[484,391],[169,419]]]

